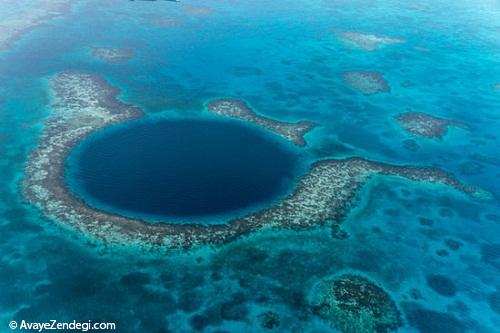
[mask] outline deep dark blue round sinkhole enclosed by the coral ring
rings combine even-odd
[[[237,122],[136,121],[84,140],[66,179],[90,205],[122,215],[227,214],[286,193],[298,163],[281,141]]]

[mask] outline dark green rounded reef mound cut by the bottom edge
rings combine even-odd
[[[387,333],[403,324],[390,295],[357,274],[320,281],[312,291],[311,311],[341,332]]]

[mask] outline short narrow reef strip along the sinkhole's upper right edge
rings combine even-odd
[[[227,116],[254,123],[293,142],[299,147],[306,145],[304,135],[317,126],[310,121],[287,123],[266,118],[255,113],[244,101],[238,99],[218,99],[208,103],[207,110],[213,114]]]

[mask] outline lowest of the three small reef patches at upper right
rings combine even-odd
[[[448,132],[449,126],[466,128],[465,124],[436,117],[422,112],[406,112],[396,116],[403,129],[413,135],[425,138],[442,138]]]

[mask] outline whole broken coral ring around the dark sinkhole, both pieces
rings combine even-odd
[[[26,164],[23,193],[45,215],[104,242],[139,244],[161,250],[187,249],[224,244],[264,228],[335,227],[347,214],[356,193],[374,175],[442,184],[473,196],[484,194],[436,168],[396,166],[353,157],[315,162],[283,200],[227,223],[149,223],[124,217],[93,208],[76,197],[65,182],[65,161],[73,148],[91,133],[137,119],[143,112],[119,101],[117,89],[93,74],[61,73],[51,78],[50,86],[52,114]],[[208,103],[207,109],[238,121],[252,122],[298,146],[305,145],[303,136],[314,126],[310,122],[284,123],[259,116],[238,100],[215,100]]]

